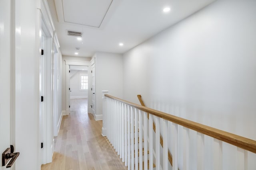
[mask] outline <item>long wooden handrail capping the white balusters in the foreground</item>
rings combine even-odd
[[[231,145],[234,145],[236,147],[248,150],[250,152],[256,153],[256,141],[252,140],[252,139],[248,139],[239,135],[235,135],[226,131],[222,131],[220,129],[216,129],[210,126],[206,126],[200,123],[196,123],[194,121],[190,121],[187,119],[183,119],[181,117],[177,117],[174,115],[170,115],[168,113],[164,113],[162,111],[158,111],[155,109],[150,109],[148,107],[145,106],[140,106],[138,104],[134,104],[132,102],[128,102],[126,100],[122,100],[120,98],[116,98],[114,96],[110,96],[108,94],[105,94],[106,97],[108,98],[112,98],[115,100],[118,100],[120,102],[123,102],[124,104],[128,104],[132,107],[135,107],[137,109],[140,109],[142,111],[145,111],[147,113],[150,113],[152,115],[155,115],[157,117],[160,117],[162,119],[171,121],[173,123],[176,123],[178,125],[187,127],[188,129],[192,129],[194,131],[200,132],[204,135],[208,135],[210,137],[214,137],[220,141],[224,141],[226,143],[229,143]]]

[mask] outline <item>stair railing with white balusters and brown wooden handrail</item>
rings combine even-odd
[[[155,133],[153,131],[153,119],[156,124]],[[169,127],[170,124],[171,128]],[[183,128],[178,128],[178,125]],[[160,126],[163,129],[162,155],[160,155]],[[193,155],[196,157],[196,167],[192,167],[189,160],[189,155],[191,154],[191,148],[189,147],[191,140],[190,130],[194,130],[197,133],[196,154]],[[179,143],[178,134],[183,135],[182,141],[179,141]],[[128,170],[153,170],[154,165],[156,170],[170,169],[170,166],[168,166],[169,135],[172,137],[172,170],[178,170],[178,155],[183,157],[182,169],[184,170],[204,170],[208,169],[208,166],[214,166],[212,169],[221,170],[224,167],[222,161],[223,142],[237,147],[238,158],[234,163],[237,164],[237,169],[239,170],[246,170],[248,168],[248,151],[256,153],[256,141],[252,139],[140,106],[108,94],[103,95],[102,135],[106,135],[117,154],[120,155],[122,161],[128,166]],[[206,149],[204,141],[206,136],[213,138],[212,160],[214,162],[212,165],[206,165],[204,161],[204,150]],[[155,155],[153,149],[154,140]],[[178,153],[178,147],[182,147],[182,152]],[[160,160],[161,157],[162,160]]]

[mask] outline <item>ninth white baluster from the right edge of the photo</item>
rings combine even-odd
[[[141,152],[142,153],[142,152]],[[148,169],[148,113],[144,112],[144,169]],[[153,162],[151,162],[153,164]]]

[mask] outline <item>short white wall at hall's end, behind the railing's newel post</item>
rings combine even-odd
[[[102,119],[102,90],[109,90],[109,94],[118,98],[123,97],[123,67],[122,55],[115,53],[96,53],[95,84],[96,84],[96,115],[95,119]]]

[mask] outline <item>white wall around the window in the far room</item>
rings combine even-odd
[[[70,99],[88,98],[88,90],[80,90],[80,74],[87,71],[70,70]]]

